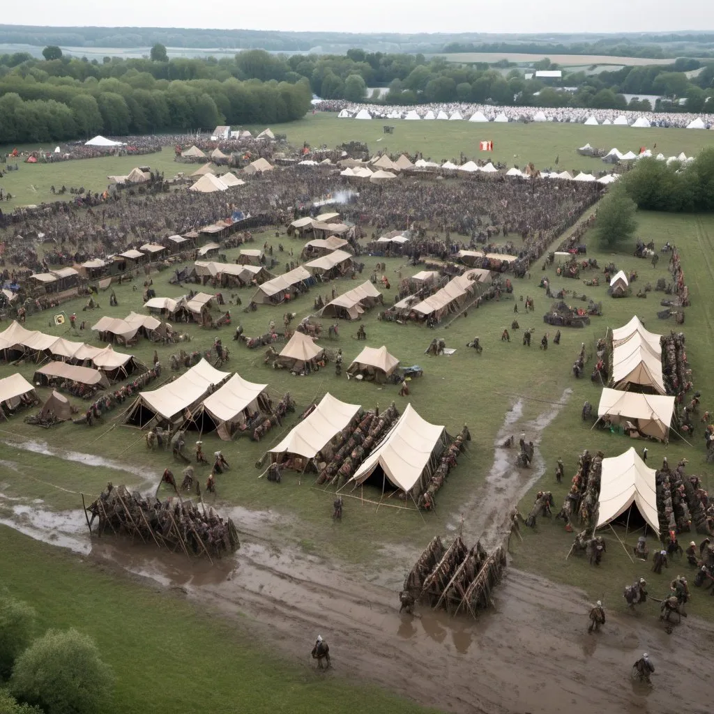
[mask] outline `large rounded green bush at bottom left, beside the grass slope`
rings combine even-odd
[[[109,700],[113,683],[91,638],[49,630],[16,660],[10,691],[46,714],[94,714]]]

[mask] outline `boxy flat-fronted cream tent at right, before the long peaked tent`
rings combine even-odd
[[[674,413],[674,397],[623,392],[605,387],[600,395],[598,418],[615,424],[634,423],[640,433],[660,441],[669,436]]]

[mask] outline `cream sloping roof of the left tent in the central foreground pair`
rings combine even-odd
[[[296,333],[299,334],[299,333]],[[359,404],[346,404],[326,393],[322,401],[270,453],[295,453],[313,458],[353,420]]]

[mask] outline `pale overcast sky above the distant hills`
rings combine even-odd
[[[714,0],[39,0],[3,3],[3,24],[353,32],[640,32],[714,30]]]

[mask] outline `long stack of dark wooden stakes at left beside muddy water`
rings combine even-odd
[[[141,496],[138,491],[129,491],[126,486],[107,486],[106,491],[90,506],[87,525],[99,519],[97,535],[107,528],[114,535],[129,536],[133,540],[139,536],[144,543],[150,542],[157,548],[161,544],[169,550],[183,550],[188,557],[205,555],[213,563],[211,556],[221,558],[241,547],[238,531],[230,518],[221,518],[213,508],[201,510],[192,501],[171,498],[159,501],[152,496]]]

